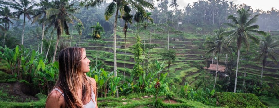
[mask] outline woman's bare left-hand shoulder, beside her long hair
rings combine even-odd
[[[52,90],[48,97],[46,102],[46,108],[61,108],[65,104],[63,95],[56,91]]]

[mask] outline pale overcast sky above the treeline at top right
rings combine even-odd
[[[169,3],[171,0],[168,0]],[[179,9],[183,9],[183,7],[187,6],[188,3],[190,3],[193,6],[193,2],[196,2],[198,0],[177,0],[177,3],[179,5]],[[279,9],[279,0],[227,0],[234,1],[234,4],[242,4],[245,3],[248,6],[251,6],[252,9],[262,9],[263,11],[270,10],[272,7],[275,9]]]

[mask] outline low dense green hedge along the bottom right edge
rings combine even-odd
[[[214,96],[217,106],[229,108],[266,108],[254,94],[217,92]]]

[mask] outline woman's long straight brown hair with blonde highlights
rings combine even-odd
[[[83,108],[86,96],[92,99],[93,83],[81,70],[83,52],[84,48],[67,47],[58,56],[59,78],[53,88],[63,90],[66,108]],[[78,97],[78,90],[82,90],[82,99]]]

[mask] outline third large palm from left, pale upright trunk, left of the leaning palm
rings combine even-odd
[[[40,52],[40,53],[42,53],[43,42],[44,42],[43,41],[44,33],[45,33],[45,23],[47,21],[46,10],[50,8],[51,4],[50,4],[50,2],[48,2],[48,0],[41,0],[40,4],[38,4],[38,5],[41,6],[41,8],[35,10],[36,15],[33,16],[33,21],[31,24],[33,24],[35,22],[42,23],[42,42],[41,42],[41,52]]]

